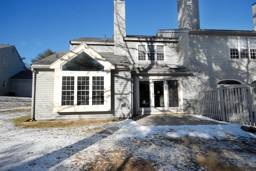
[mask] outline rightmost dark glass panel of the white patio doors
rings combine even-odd
[[[168,80],[169,107],[179,107],[178,80]]]

